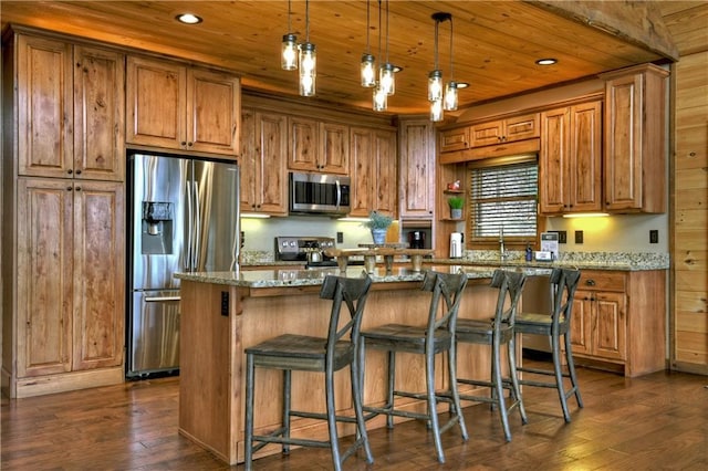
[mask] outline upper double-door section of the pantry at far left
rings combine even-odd
[[[125,178],[123,54],[17,39],[18,174]]]

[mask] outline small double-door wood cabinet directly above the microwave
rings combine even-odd
[[[300,116],[288,117],[288,168],[347,175],[348,126]]]

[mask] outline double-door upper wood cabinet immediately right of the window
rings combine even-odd
[[[539,211],[602,210],[602,102],[541,113]]]

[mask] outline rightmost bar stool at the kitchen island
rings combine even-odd
[[[553,376],[553,383],[540,381],[533,379],[521,379],[521,385],[537,386],[544,388],[553,388],[558,390],[561,408],[563,409],[563,418],[566,422],[571,421],[571,415],[568,409],[568,398],[575,395],[577,407],[583,407],[583,400],[580,396],[577,386],[577,377],[575,376],[575,365],[573,363],[573,350],[571,346],[571,317],[573,308],[573,299],[577,282],[580,281],[579,270],[553,269],[551,272],[551,295],[552,295],[552,313],[535,314],[520,313],[517,317],[517,332],[520,334],[544,335],[551,343],[551,353],[553,355],[553,370],[544,368],[518,368],[519,371],[532,373],[535,375]],[[563,346],[561,348],[560,337],[563,336]],[[563,350],[565,350],[563,355]],[[565,359],[566,370],[563,370],[563,359]],[[565,389],[564,378],[570,378],[571,387]]]

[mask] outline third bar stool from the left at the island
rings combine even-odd
[[[525,425],[528,422],[517,375],[517,352],[514,343],[514,317],[525,279],[525,275],[520,272],[496,270],[490,286],[498,289],[499,293],[494,316],[491,321],[461,317],[457,320],[456,337],[458,343],[482,344],[491,347],[490,380],[457,378],[457,383],[460,385],[489,387],[490,396],[460,394],[460,399],[476,402],[490,402],[492,406],[497,406],[507,441],[511,441],[509,414],[511,414],[513,409],[519,409],[521,423]],[[502,345],[507,345],[509,366],[507,376],[503,376],[501,367]],[[504,389],[509,391],[509,405],[507,405],[507,399],[503,395]]]

